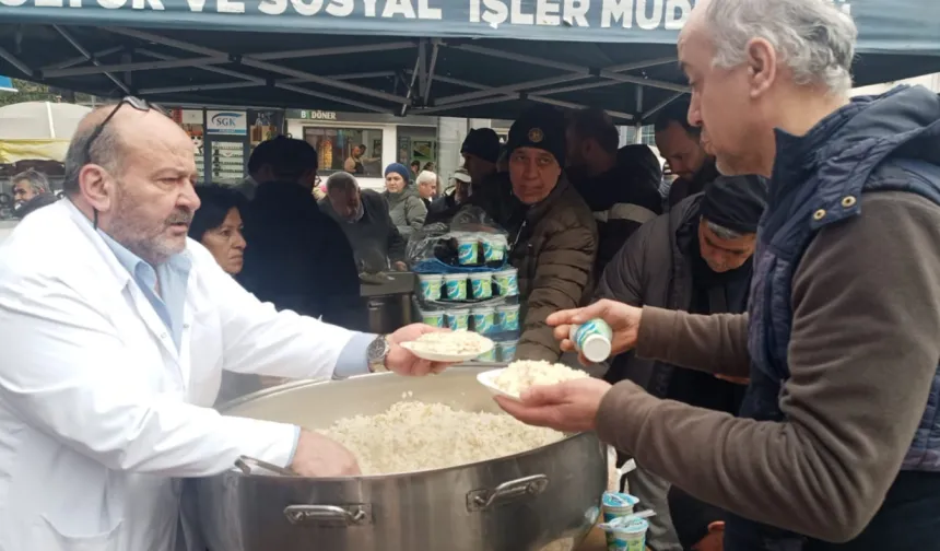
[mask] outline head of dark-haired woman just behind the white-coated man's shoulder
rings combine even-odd
[[[192,216],[189,237],[201,243],[230,276],[237,276],[245,263],[242,210],[245,196],[219,185],[196,186],[202,206]]]

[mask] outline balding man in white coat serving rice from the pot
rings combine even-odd
[[[192,144],[126,98],[79,126],[67,199],[0,247],[0,550],[168,551],[180,479],[240,455],[357,472],[341,445],[211,408],[222,370],[345,377],[442,370],[383,338],[277,313],[187,239]]]

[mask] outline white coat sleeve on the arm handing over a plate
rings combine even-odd
[[[359,333],[291,310],[278,312],[210,260],[200,262],[199,276],[205,278],[207,292],[219,308],[225,370],[290,378],[333,375],[343,348]],[[361,372],[368,372],[365,361]],[[356,373],[344,375],[349,374]]]

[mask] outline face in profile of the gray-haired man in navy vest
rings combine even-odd
[[[761,69],[760,63],[756,68],[751,63],[730,69],[714,66],[706,5],[707,1],[696,5],[679,36],[679,62],[692,87],[689,122],[707,132],[708,149],[722,174],[761,174],[755,150],[773,128],[762,108],[767,83],[761,82],[761,71],[766,68]]]

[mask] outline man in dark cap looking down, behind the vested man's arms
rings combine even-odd
[[[637,230],[611,260],[598,286],[599,298],[632,306],[690,312],[747,312],[757,222],[767,201],[760,176],[719,176],[671,211]],[[630,379],[659,398],[737,414],[744,385],[712,374],[636,357],[613,359],[604,378]],[[628,474],[641,503],[657,511],[649,519],[654,551],[682,547],[670,521],[669,483],[638,466]]]

